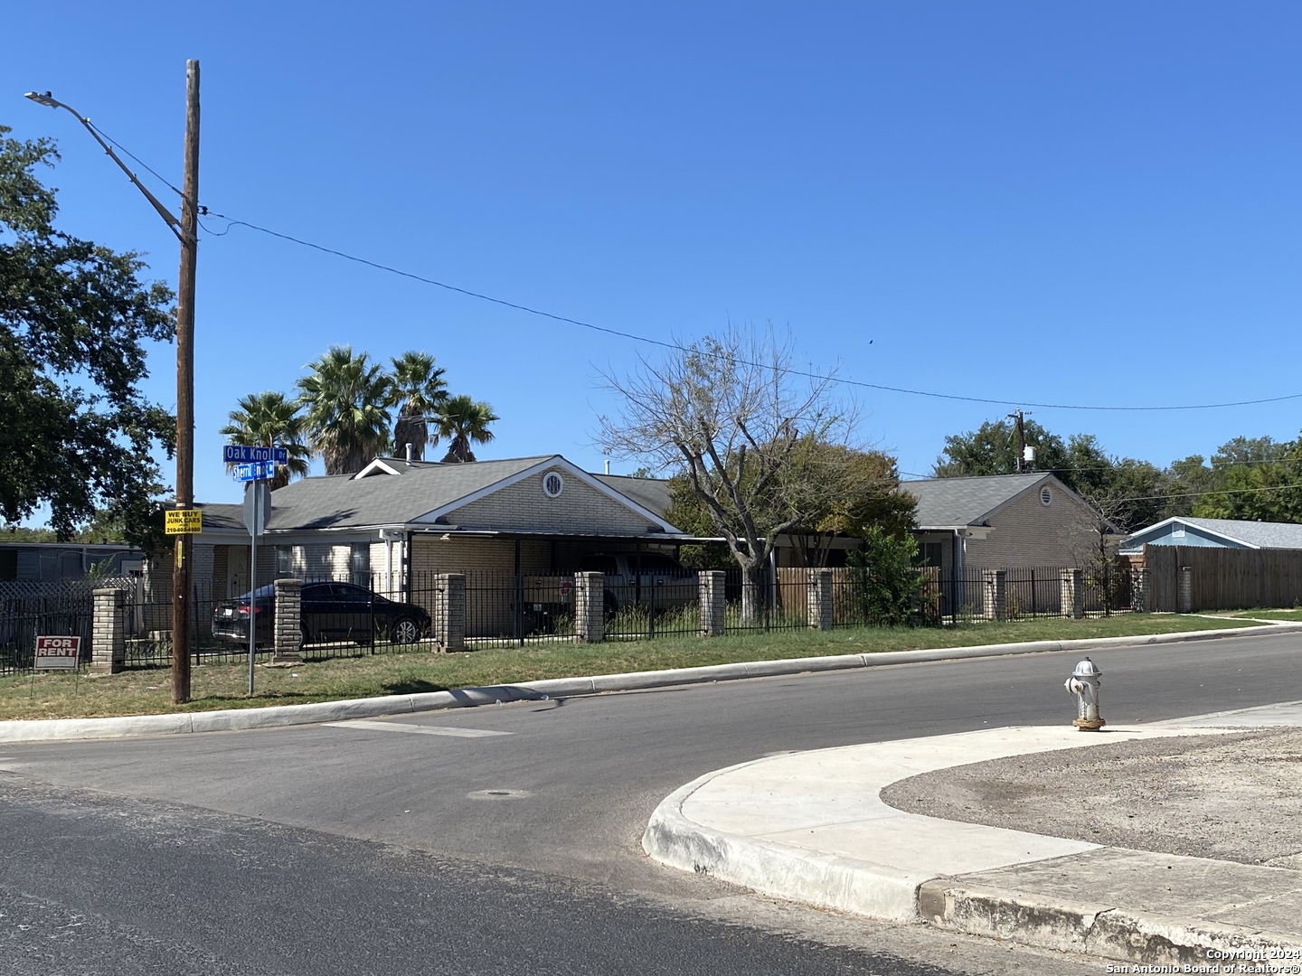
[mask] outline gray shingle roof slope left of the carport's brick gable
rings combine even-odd
[[[404,467],[402,478],[305,478],[272,493],[271,522],[267,528],[284,531],[402,524],[553,457],[559,455],[477,461],[470,465],[414,465]],[[395,466],[398,465],[402,462],[396,462]],[[241,511],[241,524],[242,518]]]

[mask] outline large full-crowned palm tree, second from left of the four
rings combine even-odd
[[[331,346],[307,368],[298,402],[312,449],[326,459],[326,474],[357,474],[388,448],[393,381],[352,346]]]

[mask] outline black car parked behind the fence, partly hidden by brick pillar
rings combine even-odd
[[[258,621],[256,643],[271,644],[276,614],[272,586],[217,604],[212,610],[212,636],[247,645],[250,608]],[[331,640],[368,644],[372,639],[414,644],[430,632],[430,614],[419,606],[389,600],[352,583],[303,583],[301,614],[303,644]]]

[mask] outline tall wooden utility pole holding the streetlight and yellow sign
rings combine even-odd
[[[199,62],[185,62],[185,191],[176,290],[176,506],[194,508],[194,265],[199,250]],[[190,700],[194,544],[176,537],[172,563],[172,701]],[[256,587],[256,583],[254,584]],[[251,617],[250,617],[251,619]]]

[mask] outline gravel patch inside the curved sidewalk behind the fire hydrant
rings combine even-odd
[[[881,799],[945,820],[1302,869],[1302,729],[1010,756],[901,779]]]

